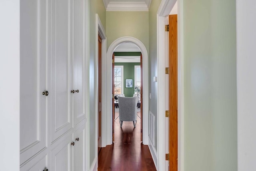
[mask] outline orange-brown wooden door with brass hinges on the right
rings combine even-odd
[[[170,171],[178,171],[177,15],[169,16],[169,154]]]

